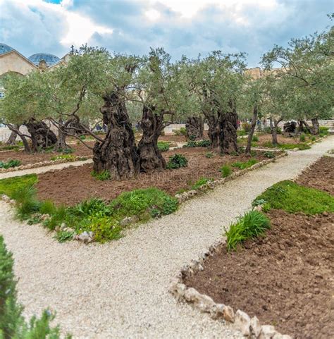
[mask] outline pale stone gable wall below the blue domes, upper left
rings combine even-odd
[[[26,75],[35,69],[37,69],[36,66],[33,66],[16,51],[0,55],[0,76],[10,71]]]

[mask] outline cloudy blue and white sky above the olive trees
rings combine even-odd
[[[63,56],[87,43],[126,54],[163,47],[174,59],[246,52],[321,32],[334,0],[0,0],[0,42],[24,56]]]

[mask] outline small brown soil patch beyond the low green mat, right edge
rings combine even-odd
[[[334,195],[334,158],[323,156],[299,175],[296,182]]]

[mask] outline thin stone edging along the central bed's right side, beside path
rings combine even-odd
[[[194,197],[195,195],[199,195],[200,193],[206,192],[207,190],[212,190],[214,189],[214,187],[218,185],[222,185],[223,183],[227,183],[228,181],[238,178],[247,172],[253,171],[256,168],[260,168],[262,166],[270,164],[271,162],[275,162],[277,159],[283,158],[283,156],[287,156],[287,152],[283,152],[283,154],[279,154],[278,156],[272,159],[262,160],[249,168],[245,168],[243,170],[234,172],[226,178],[209,181],[208,183],[205,183],[204,185],[200,186],[198,190],[189,190],[189,191],[177,194],[175,195],[175,198],[178,199],[178,202],[181,204],[182,202],[187,201],[188,199]]]

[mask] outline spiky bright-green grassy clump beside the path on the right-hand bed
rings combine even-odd
[[[228,250],[236,249],[239,243],[247,239],[263,235],[268,228],[270,228],[270,221],[264,214],[255,210],[246,212],[225,232]]]

